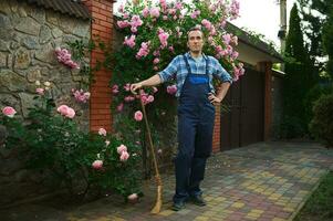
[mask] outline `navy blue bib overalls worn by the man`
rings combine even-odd
[[[208,99],[208,57],[206,73],[192,74],[188,60],[183,56],[188,74],[178,105],[178,154],[175,159],[176,193],[174,202],[201,194],[206,160],[211,154],[215,106]]]

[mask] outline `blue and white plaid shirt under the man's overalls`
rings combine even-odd
[[[189,52],[187,52],[185,56],[187,56],[192,74],[206,74],[206,60],[208,59],[208,75],[210,80],[209,86],[212,93],[215,93],[215,88],[212,86],[212,76],[218,77],[221,82],[230,82],[230,84],[232,83],[230,74],[221,66],[217,59],[202,54],[204,59],[196,61],[191,57]],[[170,81],[176,76],[177,97],[180,95],[188,71],[186,69],[186,63],[183,55],[176,56],[165,70],[158,73],[162,83]]]

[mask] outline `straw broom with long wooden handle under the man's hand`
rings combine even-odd
[[[141,99],[141,104],[142,104],[142,108],[143,108],[144,120],[146,124],[147,134],[148,134],[148,141],[149,141],[150,152],[153,156],[153,162],[154,162],[154,168],[155,168],[155,179],[156,179],[156,183],[157,183],[156,203],[150,212],[154,214],[157,214],[160,212],[160,209],[162,209],[162,186],[163,185],[162,185],[162,179],[160,179],[159,171],[158,171],[158,165],[157,165],[157,160],[156,160],[156,156],[155,156],[155,148],[153,145],[153,139],[152,139],[152,134],[150,134],[150,129],[149,129],[149,125],[148,125],[146,108],[145,108],[145,105],[142,99]]]

